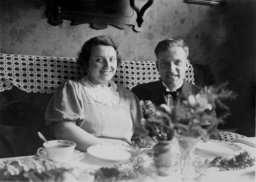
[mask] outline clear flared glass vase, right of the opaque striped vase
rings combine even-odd
[[[198,138],[178,135],[180,147],[180,174],[183,182],[192,181],[194,152]]]

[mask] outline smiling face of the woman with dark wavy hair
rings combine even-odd
[[[117,59],[114,47],[110,45],[96,45],[91,49],[88,69],[89,80],[95,85],[106,85],[116,73]]]

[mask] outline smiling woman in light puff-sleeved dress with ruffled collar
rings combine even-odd
[[[136,138],[154,143],[139,124],[143,114],[138,98],[111,81],[120,63],[108,36],[84,44],[78,64],[88,68],[89,75],[66,81],[46,109],[46,125],[57,139],[73,140],[81,151],[94,144],[131,144]]]

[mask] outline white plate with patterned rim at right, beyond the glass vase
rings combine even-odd
[[[209,140],[208,142],[199,141],[196,144],[196,148],[204,154],[214,156],[229,156],[236,151],[242,150],[242,147],[234,143],[220,140]]]

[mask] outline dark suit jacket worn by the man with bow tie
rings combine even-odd
[[[197,94],[202,89],[203,88],[193,85],[192,83],[188,83],[188,81],[184,80],[180,94],[176,99],[176,106],[174,110],[176,118],[179,117],[179,107],[182,105],[182,102],[187,100],[189,95]],[[166,104],[164,91],[166,91],[166,87],[164,87],[162,84],[161,79],[159,81],[140,84],[132,88],[132,92],[135,93],[139,100],[150,100],[156,105]],[[217,130],[217,119],[215,112],[216,106],[213,97],[209,100],[209,103],[212,105],[212,110],[208,111],[208,114],[212,115],[213,119],[210,121],[211,125],[207,127],[208,133],[210,134],[210,139],[220,140]]]

